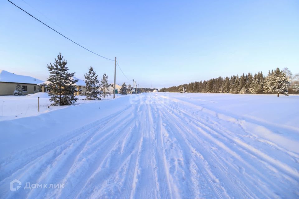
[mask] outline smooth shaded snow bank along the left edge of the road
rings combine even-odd
[[[75,129],[118,111],[120,109],[119,104],[122,106],[129,105],[129,100],[126,97],[111,101],[81,101],[90,103],[63,106],[64,109],[58,106],[55,111],[40,115],[0,121],[0,156],[3,157],[8,153],[40,143],[49,143],[51,140],[59,139],[59,137],[63,137]]]

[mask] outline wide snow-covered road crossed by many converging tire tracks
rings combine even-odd
[[[299,197],[297,127],[249,122],[177,95],[138,97],[59,140],[0,159],[0,197]],[[13,179],[22,182],[17,191],[7,189]],[[64,188],[24,189],[25,182]]]

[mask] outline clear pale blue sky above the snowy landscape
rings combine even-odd
[[[117,57],[126,76],[143,87],[276,67],[299,72],[298,0],[24,1],[12,0],[86,48]],[[59,52],[76,77],[93,66],[113,82],[114,62],[0,1],[0,69],[46,80],[46,65]],[[122,82],[129,80],[117,70],[116,83]]]

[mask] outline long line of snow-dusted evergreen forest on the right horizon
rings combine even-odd
[[[172,86],[160,89],[160,92],[187,92],[193,93],[252,93],[252,94],[285,94],[297,93],[299,74],[292,76],[288,68],[272,70],[264,76],[262,72],[257,74],[234,75],[230,77],[217,77],[205,81],[196,81],[189,84]]]

